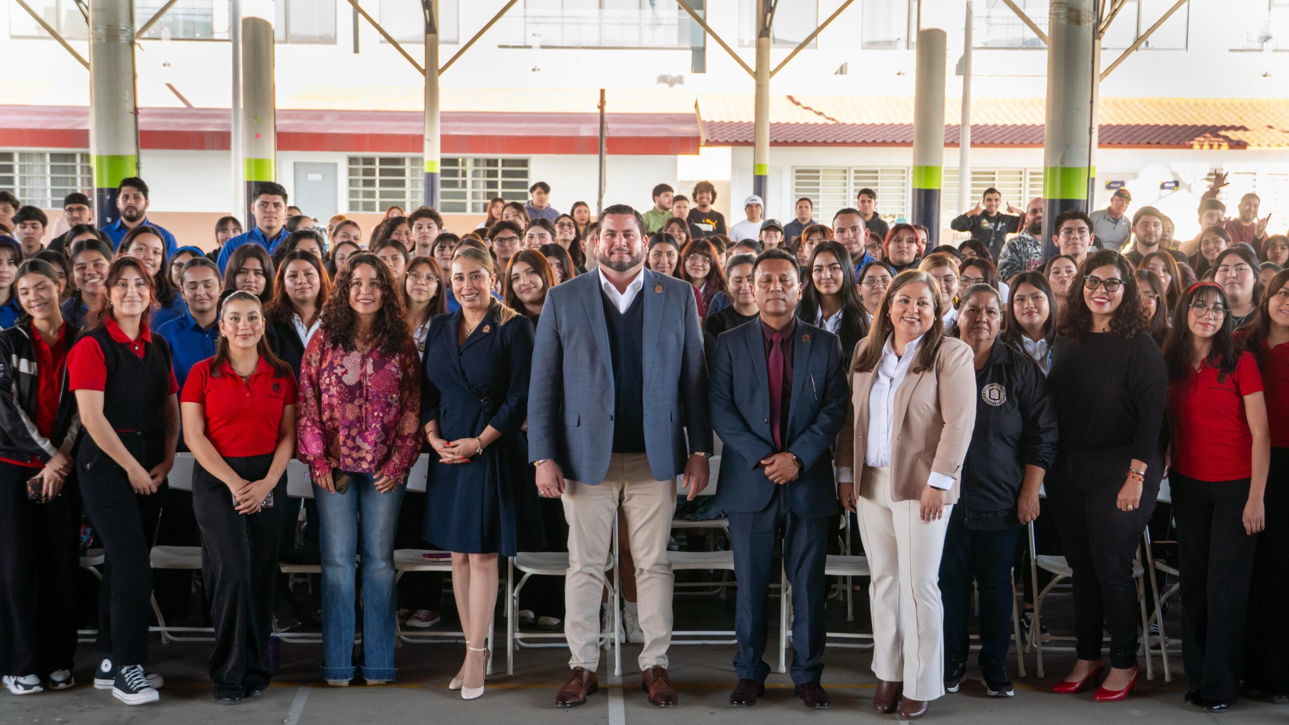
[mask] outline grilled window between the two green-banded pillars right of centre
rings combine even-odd
[[[833,214],[856,205],[861,188],[877,194],[878,215],[888,222],[909,215],[909,169],[802,166],[793,169],[793,201],[802,196],[815,204],[815,219],[831,226]]]

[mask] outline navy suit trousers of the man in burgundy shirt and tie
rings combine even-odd
[[[791,485],[791,484],[788,484]],[[740,680],[764,682],[766,605],[775,578],[775,546],[784,542],[784,569],[793,587],[793,682],[819,682],[824,672],[828,632],[825,604],[828,581],[828,516],[800,516],[788,506],[784,488],[776,486],[770,504],[755,513],[730,513],[733,573],[739,579],[733,628],[739,649],[733,657]]]

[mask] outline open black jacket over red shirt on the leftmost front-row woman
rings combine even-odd
[[[68,328],[70,339],[76,330]],[[49,439],[36,430],[36,406],[40,395],[40,370],[28,325],[15,325],[0,333],[0,458],[26,461],[35,455],[49,462],[55,452],[71,455],[80,433],[76,399],[67,391],[63,370],[58,392],[58,417]]]

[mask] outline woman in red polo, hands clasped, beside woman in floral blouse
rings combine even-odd
[[[183,440],[197,459],[192,507],[215,624],[210,679],[215,699],[236,703],[263,693],[272,675],[281,529],[273,501],[286,499],[295,453],[295,375],[268,348],[254,294],[224,298],[219,332],[215,356],[193,365],[180,401]]]

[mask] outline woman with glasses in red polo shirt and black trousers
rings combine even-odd
[[[1209,712],[1228,710],[1240,686],[1271,458],[1262,375],[1253,356],[1236,350],[1231,326],[1221,285],[1197,283],[1173,312],[1164,348],[1186,702]]]

